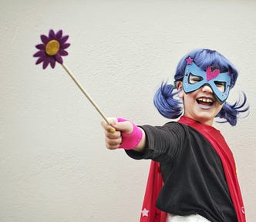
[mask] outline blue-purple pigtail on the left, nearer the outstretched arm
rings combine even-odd
[[[153,103],[159,113],[169,119],[176,119],[181,116],[183,112],[180,99],[174,98],[179,91],[173,93],[173,89],[175,89],[173,85],[167,84],[167,82],[162,83],[153,98]]]

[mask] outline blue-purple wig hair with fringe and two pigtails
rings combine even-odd
[[[185,67],[187,66],[186,59],[191,57],[193,61],[197,64],[200,69],[207,69],[208,66],[214,66],[220,69],[221,72],[231,72],[231,89],[234,87],[237,81],[238,72],[234,65],[229,62],[223,55],[219,52],[211,49],[196,49],[187,55],[185,55],[177,65],[176,73],[174,76],[174,85],[169,85],[167,82],[162,83],[160,89],[154,96],[153,102],[157,107],[160,114],[169,119],[176,119],[183,113],[183,103],[180,99],[176,99],[175,96],[179,91],[173,92],[176,87],[177,81],[182,81],[184,78]],[[247,97],[242,94],[242,98],[234,103],[233,105],[229,103],[224,103],[221,111],[216,117],[226,119],[219,123],[230,123],[231,126],[237,124],[237,116],[239,113],[244,113],[248,111],[249,106],[246,106]],[[245,107],[244,107],[245,106]]]

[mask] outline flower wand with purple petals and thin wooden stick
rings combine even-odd
[[[106,116],[99,109],[99,107],[89,96],[89,94],[86,93],[86,90],[83,89],[83,86],[80,85],[75,76],[73,76],[69,69],[63,64],[62,56],[69,55],[69,53],[66,51],[66,49],[69,48],[70,45],[70,43],[66,42],[69,39],[69,35],[62,35],[62,30],[59,30],[55,33],[51,29],[49,30],[48,36],[41,35],[40,37],[42,43],[35,45],[35,48],[39,49],[39,51],[35,52],[35,54],[33,55],[34,57],[39,57],[39,59],[36,60],[35,64],[38,65],[42,62],[42,69],[46,69],[46,67],[50,64],[52,69],[54,69],[56,66],[56,62],[59,62],[62,65],[63,69],[65,69],[65,71],[69,74],[71,79],[76,83],[76,86],[78,86],[78,88],[86,96],[89,102],[98,111],[99,115],[102,116],[106,123],[110,125],[109,121],[106,119]],[[113,130],[114,129],[112,129],[112,133]]]

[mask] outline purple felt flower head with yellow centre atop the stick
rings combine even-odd
[[[49,64],[52,69],[55,67],[56,62],[63,63],[62,56],[69,55],[65,49],[69,47],[69,43],[66,41],[69,39],[69,35],[62,36],[62,30],[54,33],[51,29],[49,36],[41,35],[42,43],[35,45],[36,49],[39,49],[33,56],[39,57],[35,64],[42,62],[42,69],[45,69]]]

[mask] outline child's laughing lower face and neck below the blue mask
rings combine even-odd
[[[207,125],[214,123],[214,117],[223,106],[217,101],[211,87],[207,85],[191,93],[184,93],[182,90],[179,95],[184,99],[184,116]]]

